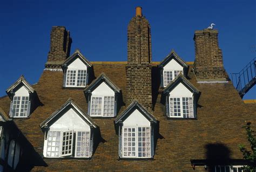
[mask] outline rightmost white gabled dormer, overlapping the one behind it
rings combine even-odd
[[[167,118],[196,118],[199,91],[182,74],[161,95]]]

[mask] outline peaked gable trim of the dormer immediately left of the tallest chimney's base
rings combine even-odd
[[[92,92],[93,90],[95,90],[100,84],[102,84],[102,82],[105,82],[105,84],[106,84],[107,86],[109,86],[114,92],[120,93],[120,91],[121,91],[120,88],[119,88],[116,84],[114,84],[114,82],[112,82],[112,81],[109,79],[109,77],[106,76],[105,73],[101,73],[101,74],[99,75],[99,77],[96,78],[96,80],[91,83],[90,86],[88,86],[87,88],[85,88],[84,93],[85,93],[85,94],[91,93],[91,92]]]

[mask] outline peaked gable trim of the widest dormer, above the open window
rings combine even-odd
[[[71,106],[71,107],[70,107]],[[84,113],[82,111],[82,109],[71,99],[69,98],[68,101],[65,102],[64,105],[62,105],[62,107],[60,107],[57,111],[53,112],[49,118],[47,118],[46,120],[44,120],[41,124],[40,127],[41,128],[47,128],[49,124],[54,123],[57,119],[59,119],[61,116],[63,116],[64,114],[62,114],[62,112],[64,112],[67,109],[73,108],[73,110],[91,127],[94,128],[98,128],[98,126],[96,125],[95,122],[92,121],[92,119],[90,118],[89,115],[87,115],[86,113]]]

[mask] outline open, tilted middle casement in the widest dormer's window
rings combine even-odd
[[[72,139],[73,139],[73,131],[63,132],[62,155],[72,154],[72,143],[73,143]]]

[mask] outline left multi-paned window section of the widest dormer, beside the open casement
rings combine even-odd
[[[47,139],[47,152],[48,157],[58,157],[59,156],[59,143],[60,143],[60,132],[48,132]]]

